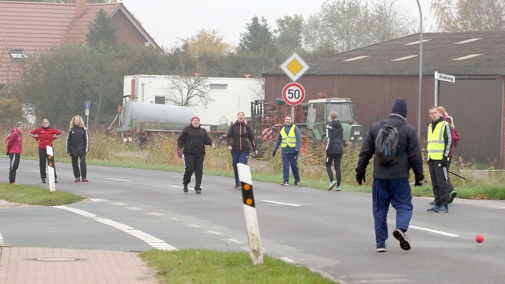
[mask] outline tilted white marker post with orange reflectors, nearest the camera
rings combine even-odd
[[[249,166],[237,164],[238,179],[242,188],[242,200],[244,201],[244,217],[246,218],[247,238],[249,239],[249,251],[254,265],[263,263],[261,245],[259,243],[258,217],[252,190],[251,170]]]

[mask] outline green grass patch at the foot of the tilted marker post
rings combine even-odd
[[[161,283],[335,283],[308,268],[263,256],[253,265],[248,253],[151,250],[140,254]]]

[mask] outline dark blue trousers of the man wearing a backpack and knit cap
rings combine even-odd
[[[377,245],[383,245],[387,239],[389,204],[396,209],[396,227],[406,232],[412,218],[412,194],[408,179],[373,179],[372,210]]]

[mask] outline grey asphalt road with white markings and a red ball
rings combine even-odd
[[[0,182],[9,160],[0,158]],[[74,183],[58,163],[57,189],[87,199],[60,207],[0,209],[4,245],[144,251],[248,250],[241,193],[232,179],[204,175],[202,194],[182,192],[182,174],[88,166]],[[17,182],[42,186],[38,161],[22,160]],[[191,188],[190,184],[190,188]],[[343,283],[503,283],[505,202],[456,201],[428,213],[414,198],[407,235],[412,250],[387,240],[376,253],[371,195],[253,182],[263,253],[319,269]],[[344,185],[345,188],[345,185]],[[505,188],[504,188],[505,190]],[[395,229],[395,210],[388,217]],[[482,234],[483,243],[475,236]]]

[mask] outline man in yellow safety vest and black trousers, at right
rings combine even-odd
[[[449,193],[451,187],[448,183],[448,157],[453,143],[451,123],[445,121],[436,107],[429,109],[429,118],[432,123],[428,125],[428,138],[426,155],[428,159],[429,175],[432,179],[435,205],[426,209],[428,212],[448,212]]]

